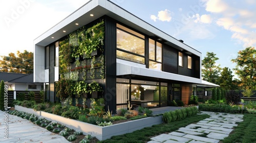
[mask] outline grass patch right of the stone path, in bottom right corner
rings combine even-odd
[[[224,138],[223,143],[228,142],[256,142],[256,114],[244,114],[244,121],[238,123],[231,134]]]

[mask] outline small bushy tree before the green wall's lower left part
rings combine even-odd
[[[62,107],[64,106],[65,100],[72,96],[72,80],[59,79],[56,83],[56,97],[58,97],[61,101]]]

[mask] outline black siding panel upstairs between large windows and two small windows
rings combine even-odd
[[[178,74],[178,51],[165,44],[163,45],[163,71]]]

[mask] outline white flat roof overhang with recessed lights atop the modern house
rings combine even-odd
[[[93,14],[94,16],[90,16],[90,14]],[[87,4],[83,5],[68,17],[57,23],[50,30],[37,37],[34,40],[34,44],[47,46],[104,15],[110,16],[148,36],[158,37],[159,40],[162,40],[165,44],[168,44],[178,50],[187,51],[189,54],[193,53],[201,57],[201,53],[199,51],[160,31],[116,4],[102,0],[89,1]],[[76,25],[76,23],[79,25]]]

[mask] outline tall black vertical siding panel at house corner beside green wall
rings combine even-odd
[[[116,21],[105,17],[105,110],[116,112]]]

